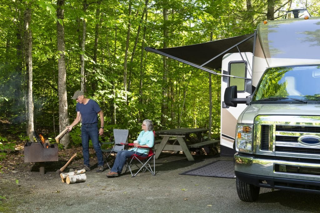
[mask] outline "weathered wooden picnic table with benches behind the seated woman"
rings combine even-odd
[[[198,128],[178,128],[178,129],[168,129],[168,130],[160,130],[156,131],[156,135],[162,137],[160,144],[156,144],[156,159],[158,159],[160,153],[163,150],[171,150],[171,151],[183,151],[187,156],[189,161],[194,161],[193,156],[191,155],[189,148],[191,147],[201,147],[204,145],[214,144],[219,142],[219,140],[210,140],[203,141],[202,134],[208,132],[209,129],[198,129]],[[199,143],[195,143],[195,141],[190,137],[190,134],[196,134],[196,137]],[[179,142],[179,145],[175,144],[167,144],[170,138],[176,138]]]

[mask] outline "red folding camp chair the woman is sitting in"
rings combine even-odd
[[[153,134],[155,135],[155,131],[153,131]],[[129,145],[129,146],[133,146],[133,143],[129,143],[129,144],[125,144],[125,145]],[[138,146],[138,148],[146,148],[146,147],[140,147]],[[130,157],[130,161],[129,161],[129,158],[127,160],[127,168],[124,172],[126,172],[128,169],[130,170],[130,173],[132,175],[132,177],[135,177],[140,171],[150,171],[152,175],[156,175],[156,158],[155,158],[155,150],[154,150],[154,145],[153,147],[151,148],[148,148],[149,149],[149,153],[148,153],[148,156],[146,157],[141,157],[139,155],[137,155],[137,151]],[[151,159],[153,159],[153,169],[152,167],[150,166],[150,162],[151,162]],[[139,164],[140,163],[140,164]],[[139,165],[137,165],[139,164]],[[133,165],[136,165],[139,170],[133,174],[132,173],[132,166]]]

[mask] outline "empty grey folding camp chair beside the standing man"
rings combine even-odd
[[[107,163],[109,169],[110,166],[108,164],[108,158],[111,154],[116,155],[117,152],[124,150],[124,145],[121,143],[126,143],[128,140],[128,134],[129,134],[129,130],[127,129],[114,129],[113,130],[113,136],[115,138],[115,141],[113,142],[101,142],[102,144],[106,145],[106,144],[114,144],[114,146],[112,148],[109,149],[101,149],[103,155],[105,156],[104,158],[104,162]]]

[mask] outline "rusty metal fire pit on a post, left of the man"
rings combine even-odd
[[[27,142],[24,146],[24,162],[40,162],[40,174],[44,174],[44,163],[49,161],[58,161],[58,145],[51,144],[49,148],[45,148],[39,136],[34,133],[38,143]]]

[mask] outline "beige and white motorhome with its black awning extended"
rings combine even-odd
[[[253,34],[146,48],[221,75],[220,154],[234,155],[242,201],[260,187],[320,194],[320,17],[301,11]]]

